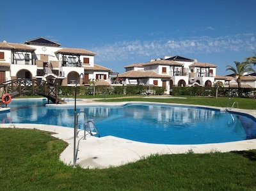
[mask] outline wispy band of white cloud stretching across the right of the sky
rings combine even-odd
[[[239,52],[256,50],[254,34],[230,36],[196,36],[188,39],[161,39],[152,41],[124,41],[92,47],[98,61],[120,61],[136,57],[163,57],[175,54],[204,54],[212,52]]]

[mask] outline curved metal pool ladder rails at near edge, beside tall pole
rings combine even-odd
[[[82,130],[78,130],[78,118],[79,118],[80,114],[83,114],[84,119],[86,121],[86,123],[84,123],[84,129],[82,129]],[[76,128],[76,136],[77,137],[78,137],[79,132],[84,131],[83,136],[77,142],[77,147],[76,147],[76,160],[77,160],[77,153],[79,151],[79,143],[80,143],[80,141],[82,139],[86,140],[86,135],[91,135],[91,136],[97,135],[98,137],[100,137],[100,134],[99,134],[99,131],[97,130],[95,124],[93,123],[93,121],[92,120],[88,120],[86,113],[83,112],[83,111],[79,112],[77,114],[77,116],[76,116],[76,127],[75,128]],[[95,130],[95,132],[93,132],[93,130]]]

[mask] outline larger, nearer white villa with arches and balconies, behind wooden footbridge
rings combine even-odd
[[[111,69],[94,63],[95,52],[62,48],[60,43],[44,37],[24,44],[0,42],[0,82],[13,79],[56,79],[63,86],[104,81],[109,84]]]

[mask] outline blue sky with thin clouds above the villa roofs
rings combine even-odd
[[[44,36],[97,53],[95,63],[124,66],[164,56],[218,65],[256,52],[255,0],[1,1],[0,41]]]

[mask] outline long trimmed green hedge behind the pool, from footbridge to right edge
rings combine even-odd
[[[165,89],[157,86],[77,86],[77,95],[163,95]],[[216,96],[216,88],[173,87],[171,95]],[[58,87],[59,95],[74,95],[74,86]],[[253,88],[218,88],[218,96],[240,96],[256,98]]]

